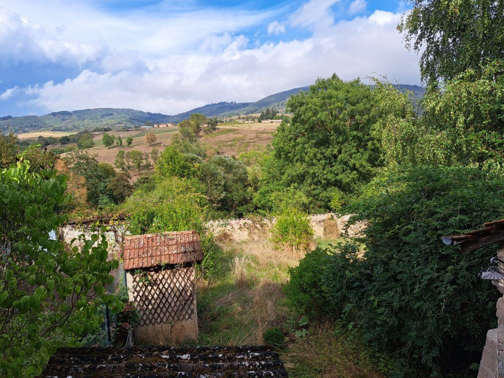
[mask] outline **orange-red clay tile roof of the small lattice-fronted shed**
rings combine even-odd
[[[201,238],[196,231],[126,236],[123,245],[124,270],[203,260]]]

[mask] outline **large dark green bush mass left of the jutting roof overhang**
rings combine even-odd
[[[441,236],[502,217],[504,178],[468,167],[390,172],[352,210],[368,222],[364,258],[352,244],[323,261],[320,252],[306,255],[291,270],[288,299],[308,313],[327,303],[326,314],[356,326],[375,353],[402,361],[398,376],[467,372],[496,322],[498,292],[477,275],[494,251],[462,253]]]

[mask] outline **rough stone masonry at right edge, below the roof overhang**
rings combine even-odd
[[[497,250],[497,257],[504,261],[504,249]],[[502,270],[504,267],[500,266]],[[498,291],[504,294],[504,281],[493,280]],[[488,330],[481,356],[478,378],[504,378],[504,297],[497,300],[497,328]]]

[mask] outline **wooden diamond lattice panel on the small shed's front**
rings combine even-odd
[[[194,267],[135,274],[132,293],[140,326],[189,320],[194,312]]]

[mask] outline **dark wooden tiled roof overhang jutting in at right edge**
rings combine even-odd
[[[487,222],[484,227],[465,234],[443,236],[446,245],[461,245],[463,251],[469,251],[494,243],[504,242],[504,219]]]

